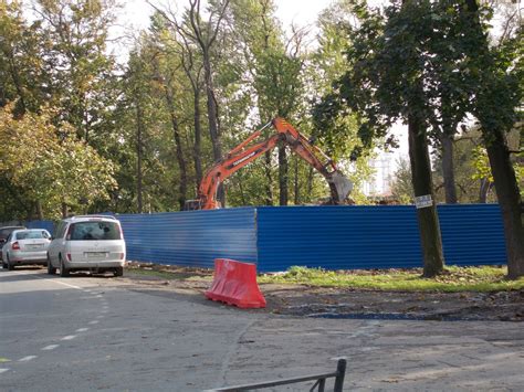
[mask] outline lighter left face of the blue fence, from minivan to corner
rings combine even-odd
[[[256,262],[254,209],[117,215],[127,258],[213,267],[216,257]]]

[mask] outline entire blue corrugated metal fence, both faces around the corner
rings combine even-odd
[[[438,206],[448,265],[505,264],[497,204]],[[217,257],[328,269],[422,266],[412,205],[261,206],[116,215],[130,261],[212,267]],[[52,231],[52,222],[30,222]]]

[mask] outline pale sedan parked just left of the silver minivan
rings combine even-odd
[[[2,247],[2,267],[17,265],[48,265],[48,246],[51,234],[43,229],[14,230]]]

